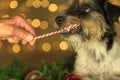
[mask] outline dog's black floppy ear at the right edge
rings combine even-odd
[[[96,0],[98,5],[104,11],[105,17],[109,23],[118,21],[120,16],[120,0]]]

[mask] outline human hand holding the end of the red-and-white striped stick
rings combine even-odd
[[[9,43],[34,45],[36,36],[34,29],[21,16],[5,18],[0,20],[0,39],[8,40]]]

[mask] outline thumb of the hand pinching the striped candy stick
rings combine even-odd
[[[34,36],[30,32],[19,27],[15,27],[14,36],[26,41],[31,41],[34,39]]]

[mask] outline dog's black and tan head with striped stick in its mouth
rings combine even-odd
[[[111,48],[114,22],[120,16],[120,6],[112,5],[108,0],[72,0],[69,8],[56,17],[58,28],[71,24],[80,24],[79,30],[63,33],[71,42],[95,42],[106,40]]]

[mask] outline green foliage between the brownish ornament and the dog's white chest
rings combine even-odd
[[[60,62],[47,66],[43,62],[42,76],[48,80],[63,80],[65,75],[73,71],[74,58],[63,59]]]

